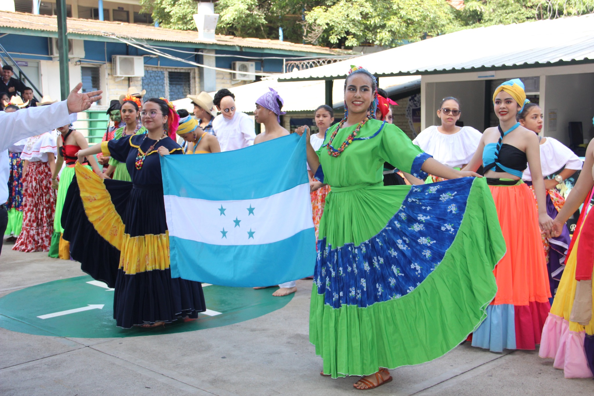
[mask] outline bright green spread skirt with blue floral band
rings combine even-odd
[[[486,317],[505,254],[484,179],[332,187],[309,340],[333,378],[428,362]]]

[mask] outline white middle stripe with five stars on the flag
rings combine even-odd
[[[314,226],[309,183],[270,197],[208,201],[165,195],[170,236],[211,245],[262,245]]]

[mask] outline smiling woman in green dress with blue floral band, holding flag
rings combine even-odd
[[[377,83],[355,68],[345,81],[345,118],[307,161],[331,186],[320,220],[309,340],[322,375],[391,381],[388,369],[447,353],[485,318],[505,254],[484,179],[451,169],[397,126],[374,119]],[[371,114],[368,116],[368,112]],[[296,129],[298,134],[307,128]],[[448,179],[384,186],[383,164]]]

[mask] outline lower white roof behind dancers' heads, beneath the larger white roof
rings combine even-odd
[[[336,80],[333,85],[334,108],[343,105],[343,89],[345,80]],[[326,84],[324,81],[301,81],[293,83],[281,83],[273,78],[271,80],[257,81],[256,83],[241,85],[240,87],[229,88],[235,94],[235,103],[239,111],[252,113],[255,110],[255,102],[258,97],[268,91],[268,87],[274,88],[280,97],[285,100],[283,111],[285,112],[309,112],[324,104],[326,97]],[[385,77],[380,80],[380,87],[388,94],[393,95],[400,91],[409,91],[421,87],[421,77],[418,75],[406,75],[401,77]],[[214,96],[214,92],[210,93]],[[178,109],[186,109],[192,112],[194,106],[189,99],[173,101]]]

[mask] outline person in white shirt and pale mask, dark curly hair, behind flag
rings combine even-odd
[[[221,112],[213,121],[214,135],[219,140],[221,151],[238,150],[254,144],[254,121],[246,113],[235,110],[235,95],[223,88],[214,95],[213,103]]]

